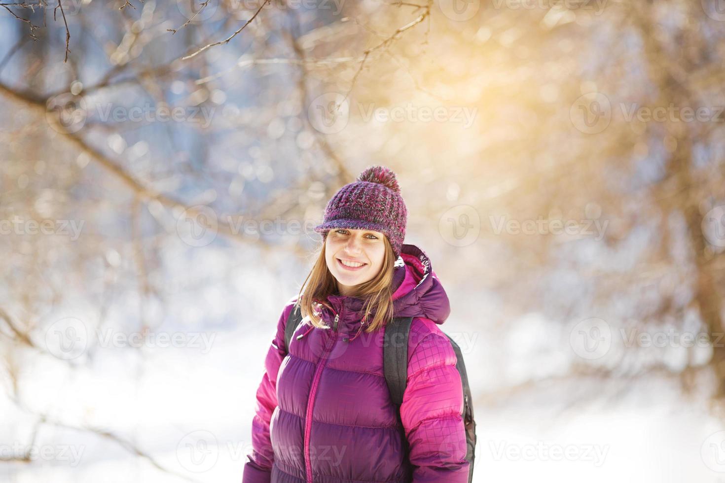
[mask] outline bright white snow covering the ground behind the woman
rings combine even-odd
[[[208,353],[159,348],[141,357],[132,349],[111,351],[87,369],[45,358],[31,369],[34,377],[22,394],[49,420],[78,427],[92,423],[176,475],[199,482],[239,481],[251,448],[254,391],[270,341],[265,332],[218,332]],[[725,428],[682,400],[676,387],[655,380],[629,391],[624,402],[560,411],[570,384],[555,382],[521,400],[513,396],[506,406],[476,407],[474,481],[725,481],[719,454],[725,437],[716,434]],[[21,429],[33,419],[8,400],[0,412],[2,440],[12,435],[28,441]],[[708,440],[711,434],[716,435]],[[33,463],[0,466],[4,480],[182,481],[120,442],[91,432],[43,425],[36,445]]]

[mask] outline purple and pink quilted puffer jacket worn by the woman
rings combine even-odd
[[[402,428],[383,371],[384,331],[359,330],[363,301],[328,297],[321,310],[331,328],[300,324],[286,355],[293,298],[265,360],[243,483],[468,482],[461,379],[436,325],[450,303],[420,248],[404,244],[401,256],[395,316],[413,317]]]

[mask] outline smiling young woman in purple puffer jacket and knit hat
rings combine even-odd
[[[265,360],[243,483],[468,482],[461,379],[437,327],[450,304],[426,254],[402,243],[406,220],[384,167],[329,201],[318,259]],[[293,308],[304,319],[288,348]],[[383,369],[392,317],[413,317],[399,412]]]

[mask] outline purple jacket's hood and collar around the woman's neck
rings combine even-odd
[[[431,260],[421,248],[403,243],[395,262],[393,286],[395,317],[425,317],[436,324],[443,324],[450,315],[448,295],[433,271]],[[363,318],[363,299],[329,295],[327,301],[332,313],[323,308],[323,319],[328,324],[339,314],[339,329],[344,332],[359,329]]]

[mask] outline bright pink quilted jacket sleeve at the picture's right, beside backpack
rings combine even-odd
[[[468,483],[463,385],[455,364],[455,352],[442,332],[425,335],[409,356],[400,416],[413,483]]]

